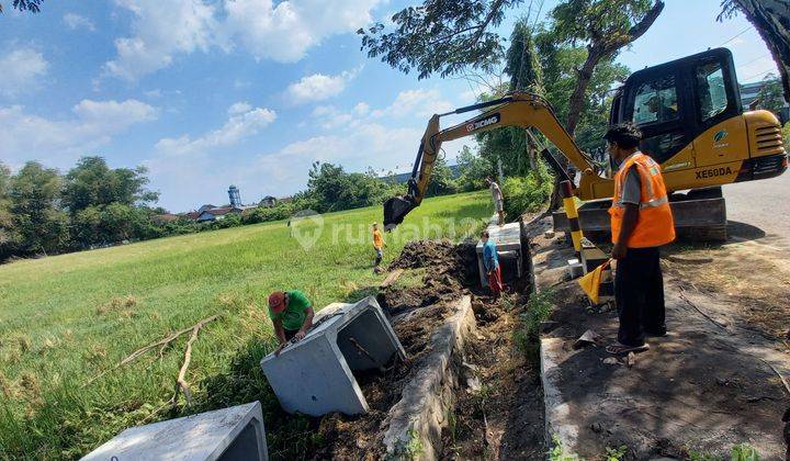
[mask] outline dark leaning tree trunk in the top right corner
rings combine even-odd
[[[744,13],[760,34],[779,68],[785,100],[790,102],[790,2],[787,0],[722,0],[718,20]]]

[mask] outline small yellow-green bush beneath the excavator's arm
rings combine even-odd
[[[542,164],[526,177],[511,177],[505,180],[505,214],[510,221],[521,214],[540,210],[551,196],[552,176]]]

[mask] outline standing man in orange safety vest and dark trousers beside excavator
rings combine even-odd
[[[658,249],[675,239],[675,223],[661,166],[639,150],[642,132],[625,123],[611,127],[605,138],[609,155],[620,166],[609,209],[620,328],[618,341],[607,351],[641,352],[650,348],[645,336],[666,335]]]

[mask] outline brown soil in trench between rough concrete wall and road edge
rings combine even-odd
[[[481,337],[469,345],[466,362],[469,376],[476,376],[481,386],[456,395],[454,424],[442,435],[444,460],[544,459],[540,367],[514,344],[518,306],[526,302],[519,297],[473,301]]]

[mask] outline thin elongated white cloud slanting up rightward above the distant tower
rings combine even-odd
[[[168,156],[204,154],[218,146],[233,146],[240,140],[257,134],[260,130],[274,122],[274,111],[262,108],[252,108],[246,103],[236,103],[228,109],[230,117],[225,124],[195,139],[189,135],[178,138],[162,138],[156,144],[156,149]]]

